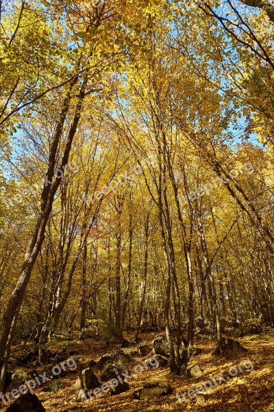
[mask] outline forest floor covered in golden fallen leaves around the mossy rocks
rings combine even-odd
[[[153,334],[141,334],[142,345],[145,343],[151,347]],[[129,334],[125,335],[127,339],[132,339]],[[75,402],[75,380],[79,374],[79,370],[83,369],[83,365],[94,359],[98,361],[101,356],[110,353],[119,348],[119,345],[110,344],[108,349],[103,350],[102,344],[95,339],[86,339],[83,343],[79,341],[64,341],[59,339],[51,342],[51,350],[66,349],[67,354],[71,351],[77,351],[73,358],[77,363],[77,369],[70,371],[64,377],[60,377],[54,382],[55,391],[46,392],[45,388],[49,386],[49,382],[41,385],[34,390],[34,393],[42,401],[47,412],[69,412],[69,411],[249,411],[249,412],[269,412],[274,411],[274,337],[253,335],[238,339],[244,345],[248,352],[236,353],[233,352],[229,356],[213,356],[211,354],[214,349],[214,342],[206,336],[202,336],[196,340],[197,347],[201,348],[202,352],[198,356],[193,356],[190,363],[197,363],[203,369],[203,375],[200,378],[186,378],[184,376],[172,376],[169,372],[169,366],[159,367],[155,370],[144,370],[141,374],[134,374],[134,377],[129,380],[130,389],[116,396],[110,396],[108,393],[103,393],[103,396],[92,398],[85,402]],[[123,349],[127,354],[135,348],[129,347]],[[20,345],[15,347],[15,350],[20,352]],[[21,347],[22,350],[22,347]],[[69,357],[69,356],[68,356]],[[242,365],[247,359],[250,359],[253,370],[247,370],[242,367],[242,372],[238,371],[235,377],[229,378],[226,382],[217,385],[212,385],[208,391],[204,391],[206,404],[199,405],[195,400],[190,400],[186,396],[186,401],[182,401],[182,405],[175,404],[175,394],[184,393],[190,389],[194,389],[197,385],[212,380],[212,378],[223,374],[227,377],[227,371],[231,367],[236,367],[238,363]],[[134,369],[135,365],[141,364],[144,358],[140,358],[137,354],[132,356],[132,363],[128,369]],[[21,367],[21,371],[23,373]],[[45,370],[43,366],[36,368],[39,374]],[[95,374],[99,377],[99,370],[92,368]],[[17,372],[18,374],[18,372]],[[164,380],[171,385],[173,393],[169,396],[161,396],[149,401],[134,400],[133,392],[141,388],[148,380]],[[51,382],[52,384],[52,382]],[[54,385],[53,385],[54,388]],[[14,389],[14,384],[7,391]],[[8,405],[6,405],[8,406]],[[5,407],[6,407],[5,406]],[[3,408],[3,403],[0,404],[0,409]]]

